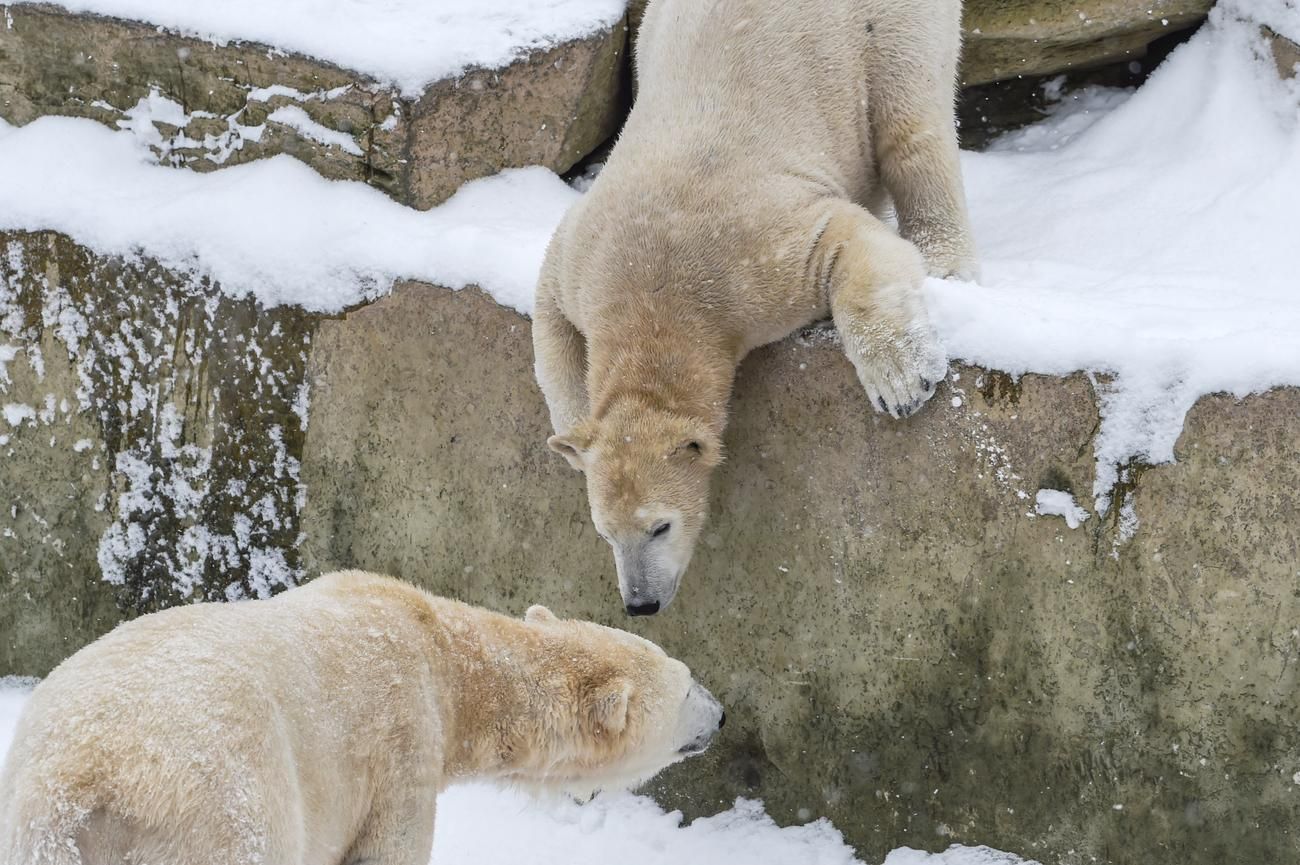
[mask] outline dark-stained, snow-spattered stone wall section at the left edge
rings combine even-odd
[[[0,233],[0,675],[43,675],[124,617],[299,578],[315,321]]]

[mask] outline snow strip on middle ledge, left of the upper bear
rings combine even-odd
[[[142,252],[268,306],[338,311],[406,277],[476,284],[526,312],[550,234],[577,198],[551,172],[524,168],[421,213],[289,156],[199,174],[159,166],[152,143],[69,117],[0,121],[0,229]]]

